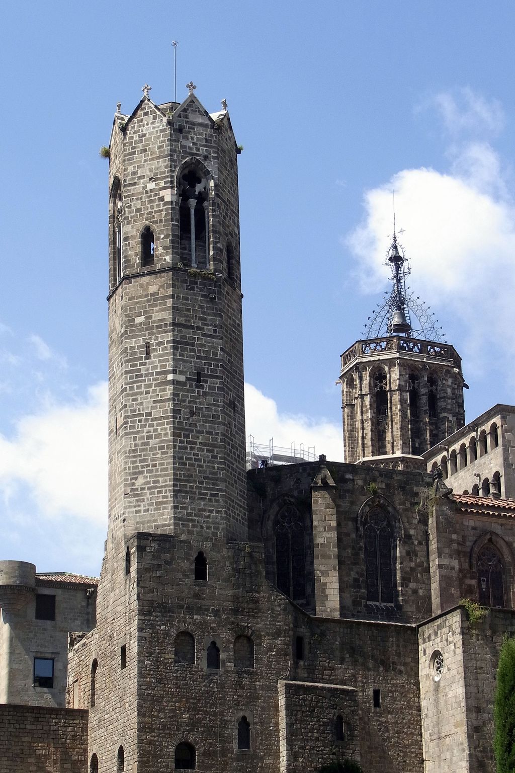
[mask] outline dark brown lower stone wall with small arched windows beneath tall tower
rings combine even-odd
[[[356,690],[356,748],[364,773],[422,773],[414,628],[310,618],[266,581],[262,550],[252,543],[225,548],[206,542],[205,582],[194,579],[190,543],[141,533],[136,539],[138,770],[168,773],[174,748],[188,742],[199,771],[279,773],[277,683],[286,679],[317,683],[320,690]],[[174,639],[181,632],[195,638],[195,663],[175,662]],[[252,639],[253,669],[235,667],[239,635]],[[298,636],[302,659],[296,657]],[[207,667],[213,641],[220,669]],[[381,692],[378,708],[374,690]],[[319,712],[317,722],[329,727],[333,710],[327,703],[327,715]],[[242,716],[251,722],[251,751],[237,748]],[[298,747],[291,770],[310,770],[312,763],[309,748]]]

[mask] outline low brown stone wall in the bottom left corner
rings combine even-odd
[[[87,711],[0,705],[0,773],[86,773]]]

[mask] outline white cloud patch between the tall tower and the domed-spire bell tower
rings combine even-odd
[[[252,433],[257,444],[268,448],[269,438],[274,446],[290,449],[303,443],[304,448],[314,446],[315,454],[325,454],[332,461],[343,461],[344,441],[341,427],[324,419],[281,414],[275,400],[266,397],[256,386],[245,385],[245,418],[247,435]]]

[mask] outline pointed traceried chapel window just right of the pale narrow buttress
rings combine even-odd
[[[367,581],[367,601],[393,604],[393,530],[386,512],[374,507],[368,512],[363,526],[364,560]]]

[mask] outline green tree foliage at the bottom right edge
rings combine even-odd
[[[515,773],[515,639],[505,638],[497,668],[493,705],[493,751],[497,773]]]

